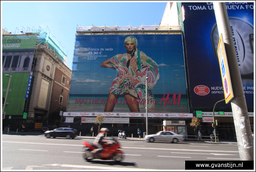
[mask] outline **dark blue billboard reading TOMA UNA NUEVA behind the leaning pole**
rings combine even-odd
[[[254,106],[254,3],[226,3],[247,107]],[[213,3],[181,3],[192,107],[213,107],[224,99]],[[232,68],[232,66],[229,66]],[[235,85],[232,85],[235,87]],[[216,107],[231,107],[225,101]]]

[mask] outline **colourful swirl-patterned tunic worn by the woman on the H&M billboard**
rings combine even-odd
[[[117,77],[113,80],[109,93],[131,94],[138,99],[139,108],[145,108],[145,80],[148,77],[148,111],[153,112],[155,110],[155,97],[152,89],[159,79],[159,69],[155,61],[139,50],[131,58],[128,68],[126,66],[127,53],[117,54],[109,60],[117,70]]]

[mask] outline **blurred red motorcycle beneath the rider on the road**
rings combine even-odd
[[[103,142],[103,150],[97,154],[96,152],[93,152],[93,150],[98,149],[97,146],[94,146],[92,143],[89,142],[82,142],[83,145],[85,145],[83,151],[85,153],[83,154],[83,157],[87,162],[90,162],[93,158],[98,158],[102,160],[114,160],[116,162],[121,162],[124,159],[123,151],[118,150],[120,147],[120,144],[117,140],[112,139],[114,142]]]

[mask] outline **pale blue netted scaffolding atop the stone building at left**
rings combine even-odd
[[[7,29],[5,28],[2,32],[2,35],[33,35],[33,34],[37,34],[37,46],[40,44],[45,45],[46,42],[48,42],[48,47],[50,47],[52,50],[55,49],[55,53],[59,58],[59,60],[61,60],[65,65],[67,65],[68,63],[67,52],[65,52],[64,48],[50,34],[50,30],[48,27],[46,27],[46,29],[42,29],[42,27],[39,26],[39,28],[36,29],[33,26],[32,29],[27,27],[27,30],[25,30],[24,27],[22,27],[21,30],[19,30],[16,27],[16,30],[11,32],[7,31]]]

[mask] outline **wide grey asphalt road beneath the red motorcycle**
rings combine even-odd
[[[43,134],[2,135],[3,170],[185,170],[185,161],[239,161],[236,142],[167,142],[119,140],[123,162],[82,157],[82,141],[91,137],[46,138]]]

